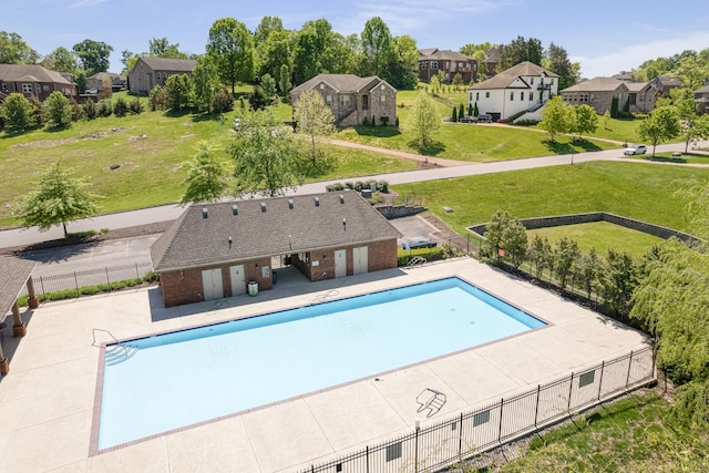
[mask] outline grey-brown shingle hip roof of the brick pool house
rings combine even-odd
[[[188,207],[153,244],[151,258],[155,271],[161,273],[399,236],[356,192],[264,197]]]

